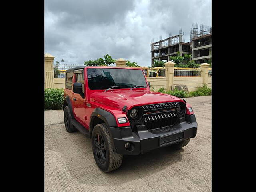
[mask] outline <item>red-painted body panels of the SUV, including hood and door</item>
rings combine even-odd
[[[148,105],[148,104],[157,104],[164,102],[184,102],[178,97],[162,94],[159,92],[150,91],[149,86],[146,88],[120,88],[108,90],[90,90],[88,88],[87,81],[87,68],[102,68],[102,67],[85,67],[84,68],[84,90],[85,98],[83,99],[79,94],[74,94],[72,90],[64,89],[64,97],[69,96],[72,102],[72,110],[75,116],[75,119],[80,122],[83,126],[89,129],[90,116],[95,108],[102,108],[116,118],[116,123],[119,127],[129,126],[130,123],[118,123],[118,118],[126,117],[126,113],[122,111],[123,106],[127,106],[128,110],[134,106]],[[115,68],[116,67],[104,67],[104,68]],[[141,70],[134,68],[120,68],[120,69],[133,69]],[[144,74],[144,73],[143,73]],[[146,79],[146,76],[144,75]],[[76,82],[76,76],[73,76],[73,83]],[[146,80],[147,82],[147,80]],[[76,98],[76,102],[73,101],[73,98]],[[89,103],[91,107],[88,107],[86,104]],[[194,112],[189,112],[188,108],[191,107],[189,104],[186,104],[186,114],[194,114]],[[86,118],[85,118],[86,117]]]

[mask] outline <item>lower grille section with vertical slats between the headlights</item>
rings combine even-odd
[[[178,114],[176,113],[176,111],[146,114],[144,116],[144,121],[147,129],[149,130],[160,127],[172,126],[178,121]]]

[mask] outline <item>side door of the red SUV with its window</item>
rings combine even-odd
[[[74,74],[75,74],[75,80],[74,82],[76,83],[82,83],[83,85],[83,92],[84,92],[84,70],[80,69],[80,70],[74,70]],[[85,93],[84,93],[85,94]],[[73,104],[74,104],[74,113],[75,116],[77,118],[77,120],[85,125],[85,101],[86,98],[84,96],[84,98],[78,94],[78,93],[74,93],[73,94]]]

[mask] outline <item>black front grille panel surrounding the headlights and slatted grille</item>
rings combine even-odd
[[[147,130],[174,126],[178,122],[179,117],[181,117],[176,110],[176,103],[168,102],[134,107],[141,114],[141,118],[138,120],[132,120],[130,118],[131,110],[129,110],[128,119],[132,130],[135,131],[136,126],[142,124],[146,126]]]

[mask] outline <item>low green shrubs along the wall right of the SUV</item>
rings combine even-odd
[[[198,87],[195,91],[190,91],[189,93],[184,93],[183,91],[179,91],[175,89],[174,91],[164,91],[164,87],[158,89],[157,92],[166,93],[169,95],[176,96],[178,98],[185,98],[185,97],[197,97],[197,96],[207,96],[212,94],[212,89],[208,88],[206,84],[202,87]]]

